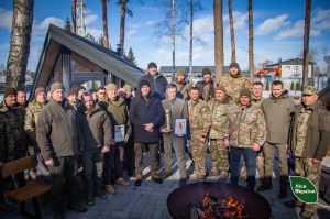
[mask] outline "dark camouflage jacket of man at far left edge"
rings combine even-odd
[[[26,135],[24,131],[25,109],[23,107],[7,107],[4,102],[0,105],[0,113],[3,116],[4,147],[1,151],[3,162],[13,161],[25,156]]]

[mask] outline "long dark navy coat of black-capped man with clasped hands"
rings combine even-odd
[[[162,102],[150,97],[144,100],[141,95],[133,98],[130,108],[130,120],[134,125],[134,142],[139,143],[158,143],[160,128],[164,122],[164,109]],[[153,132],[144,130],[144,124],[153,123]]]

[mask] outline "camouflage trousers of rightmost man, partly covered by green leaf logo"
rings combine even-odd
[[[295,173],[297,176],[308,178],[319,191],[319,183],[321,176],[321,163],[314,164],[312,158],[295,157]],[[305,204],[302,209],[306,211],[314,212],[316,208],[315,204]]]

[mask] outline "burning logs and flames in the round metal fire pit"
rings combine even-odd
[[[244,212],[245,199],[235,200],[232,196],[228,199],[219,199],[210,196],[209,193],[204,196],[200,206],[193,206],[191,218],[200,219],[231,219],[248,218]]]

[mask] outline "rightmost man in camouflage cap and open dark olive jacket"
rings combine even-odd
[[[319,188],[321,163],[330,145],[330,113],[318,100],[317,89],[307,86],[302,90],[302,103],[295,107],[290,130],[290,150],[295,155],[296,175],[308,178]],[[297,198],[285,202],[288,207],[301,207],[299,216],[315,215],[315,204],[302,204]]]

